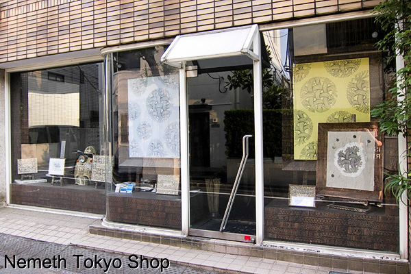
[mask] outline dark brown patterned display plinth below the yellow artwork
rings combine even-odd
[[[387,216],[384,208],[375,206],[363,214],[329,209],[328,204],[317,201],[316,208],[299,208],[288,206],[288,201],[271,201],[264,208],[266,239],[399,251],[398,216]]]

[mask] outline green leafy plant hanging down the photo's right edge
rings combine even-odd
[[[375,22],[386,33],[377,42],[377,47],[388,53],[388,63],[395,63],[397,56],[401,56],[404,67],[395,73],[396,81],[388,90],[386,100],[371,110],[371,115],[379,119],[382,132],[402,134],[407,138],[407,149],[403,155],[408,160],[411,157],[411,5],[406,0],[387,0],[379,3],[373,11],[377,14]],[[400,169],[398,174],[386,175],[388,183],[385,192],[391,192],[397,203],[402,201],[403,193],[408,192],[407,199],[410,201],[410,166],[407,164],[406,172]]]

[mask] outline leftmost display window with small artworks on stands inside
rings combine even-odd
[[[105,212],[104,182],[92,180],[92,158],[104,153],[102,69],[12,73],[12,203]],[[38,169],[23,175],[19,160]]]

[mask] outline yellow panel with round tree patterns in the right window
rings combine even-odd
[[[369,58],[294,65],[294,159],[316,160],[318,123],[370,121]]]

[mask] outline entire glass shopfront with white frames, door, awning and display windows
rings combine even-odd
[[[384,192],[399,140],[371,116],[395,73],[382,35],[370,16],[249,24],[6,71],[8,203],[406,259]]]

